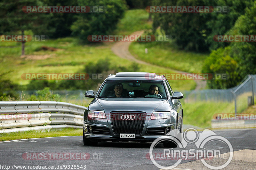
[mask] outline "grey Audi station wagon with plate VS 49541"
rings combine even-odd
[[[84,145],[101,141],[153,142],[182,133],[181,92],[172,92],[164,75],[146,72],[110,74],[98,92],[85,92],[94,98],[84,111]],[[164,147],[177,143],[165,141]]]

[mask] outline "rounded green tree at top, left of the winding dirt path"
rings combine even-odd
[[[88,35],[109,34],[123,17],[126,3],[123,0],[78,0],[79,5],[103,6],[105,12],[80,13],[71,26],[73,35],[87,41]]]

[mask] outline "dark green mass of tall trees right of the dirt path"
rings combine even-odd
[[[155,0],[154,5],[163,6],[228,6],[228,12],[153,13],[153,31],[160,26],[181,49],[209,51],[225,47],[228,43],[215,42],[213,36],[225,34],[251,4],[252,0]]]

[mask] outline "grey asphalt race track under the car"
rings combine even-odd
[[[230,164],[224,169],[256,169],[256,129],[217,130],[214,132],[228,139],[235,151]],[[78,169],[78,166],[79,169],[84,169],[86,166],[86,169],[95,170],[161,169],[156,167],[148,157],[151,143],[100,142],[97,146],[84,146],[82,138],[82,136],[49,137],[0,142],[0,169],[7,169],[9,166],[10,169],[25,169],[17,166],[27,166],[27,169],[30,169],[31,166],[34,166],[33,169],[40,169],[36,166],[44,166],[46,169],[51,169],[50,166],[55,166],[52,169]],[[211,141],[205,147],[220,150],[221,154],[229,153],[227,145],[220,144],[220,141]],[[153,153],[163,153],[163,149],[166,149],[163,148],[163,144],[158,144]],[[196,149],[195,143],[188,143],[186,149]],[[52,156],[49,153],[52,153]],[[58,156],[54,157],[54,153]],[[86,154],[81,156],[81,153]],[[43,157],[43,154],[48,156],[44,155]],[[83,159],[81,159],[82,157]],[[220,166],[227,159],[225,157],[213,158],[206,162],[212,166]],[[157,163],[171,166],[176,161],[158,160]],[[41,169],[44,168],[41,167]],[[201,160],[184,159],[174,169],[209,168],[204,166]]]

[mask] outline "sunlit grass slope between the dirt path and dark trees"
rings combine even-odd
[[[148,48],[148,54],[145,48]],[[209,55],[178,50],[169,42],[132,42],[129,50],[139,60],[189,73],[201,73],[204,60]]]

